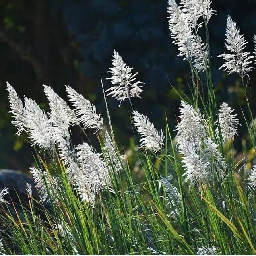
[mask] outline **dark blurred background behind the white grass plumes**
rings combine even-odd
[[[217,15],[211,18],[212,71],[218,101],[226,101],[238,114],[242,126],[235,148],[241,151],[246,129],[240,105],[245,101],[241,82],[219,70],[223,60],[225,26],[228,15],[237,22],[253,51],[255,0],[213,0]],[[43,84],[50,85],[66,99],[64,85],[71,85],[105,114],[100,77],[105,89],[111,86],[108,68],[113,49],[138,72],[145,82],[142,99],[134,99],[138,111],[149,116],[157,128],[177,124],[180,100],[175,89],[190,93],[188,65],[177,57],[167,23],[167,0],[1,0],[0,1],[0,169],[27,170],[33,155],[25,137],[12,127],[6,81],[23,97],[31,97],[47,111]],[[250,73],[249,100],[255,115],[255,70]],[[239,100],[239,103],[238,103]],[[130,106],[118,107],[107,98],[114,133],[120,145],[132,145]],[[79,133],[74,131],[79,138]],[[173,132],[175,135],[175,132]],[[241,143],[241,141],[243,143]],[[250,149],[248,149],[250,151]]]

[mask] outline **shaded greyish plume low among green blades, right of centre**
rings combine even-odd
[[[180,192],[178,188],[173,186],[173,184],[171,184],[166,178],[161,177],[160,182],[164,186],[164,191],[167,196],[166,199],[167,201],[169,201],[168,204],[173,209],[171,211],[171,215],[175,217],[179,213],[177,210],[177,206],[182,204],[182,198],[181,198]]]

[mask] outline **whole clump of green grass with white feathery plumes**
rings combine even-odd
[[[171,37],[191,72],[191,95],[179,94],[175,138],[168,118],[165,132],[159,131],[134,110],[132,98],[142,97],[143,83],[114,50],[113,87],[107,91],[120,104],[130,101],[131,122],[140,138],[139,182],[126,152],[119,151],[105,92],[109,133],[96,107],[70,86],[66,91],[72,107],[44,85],[50,107],[46,114],[32,99],[25,97],[23,104],[7,83],[17,134],[25,132],[34,149],[31,174],[40,198],[33,197],[28,185],[29,209],[21,204],[21,212],[13,214],[4,200],[8,192],[0,192],[6,226],[2,254],[255,254],[255,165],[247,156],[235,159],[233,140],[238,140],[240,121],[227,103],[216,100],[210,3],[184,0],[178,6],[168,1]],[[199,36],[202,27],[205,43]],[[242,79],[249,113],[246,143],[255,152],[255,122],[246,97],[253,57],[244,52],[246,41],[231,17],[226,35],[231,53],[221,55],[222,67]],[[73,126],[83,134],[79,145],[72,140]],[[100,152],[88,140],[87,129],[93,129]],[[35,212],[38,204],[44,207],[43,218]]]

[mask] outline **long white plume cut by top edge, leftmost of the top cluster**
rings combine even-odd
[[[189,62],[192,62],[194,35],[192,34],[190,17],[180,10],[175,0],[168,0],[167,12],[169,13],[168,21],[171,38],[174,39],[173,43],[178,46],[180,52],[178,56],[185,56]]]

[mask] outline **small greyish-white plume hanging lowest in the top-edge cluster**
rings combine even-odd
[[[208,44],[203,43],[202,39],[196,35],[194,38],[194,52],[193,52],[193,61],[192,64],[194,68],[200,71],[206,71],[208,67],[209,61],[209,51],[208,51]]]

